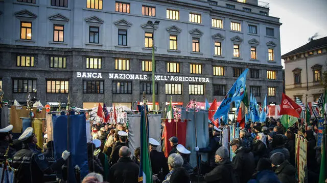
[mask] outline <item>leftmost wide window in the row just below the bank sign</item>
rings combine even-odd
[[[13,93],[36,93],[36,79],[13,79]]]

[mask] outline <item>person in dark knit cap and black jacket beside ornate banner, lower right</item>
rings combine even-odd
[[[272,170],[282,183],[296,182],[295,168],[285,159],[283,153],[274,153],[271,155],[270,160]]]

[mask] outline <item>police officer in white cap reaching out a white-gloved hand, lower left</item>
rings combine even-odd
[[[16,182],[39,183],[43,182],[43,174],[51,174],[59,170],[71,153],[63,151],[61,158],[49,166],[44,155],[36,148],[37,138],[33,128],[28,127],[18,138],[23,142],[23,148],[13,156],[12,167],[15,172]]]

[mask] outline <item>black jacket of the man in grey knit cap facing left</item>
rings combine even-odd
[[[206,182],[212,183],[232,183],[233,164],[228,160],[219,162],[218,165],[209,173],[204,175]]]

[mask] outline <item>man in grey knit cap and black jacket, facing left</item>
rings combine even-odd
[[[217,166],[209,173],[204,175],[206,182],[236,182],[233,179],[237,179],[237,175],[233,173],[233,164],[229,160],[228,149],[224,146],[219,147],[215,153],[215,162]]]

